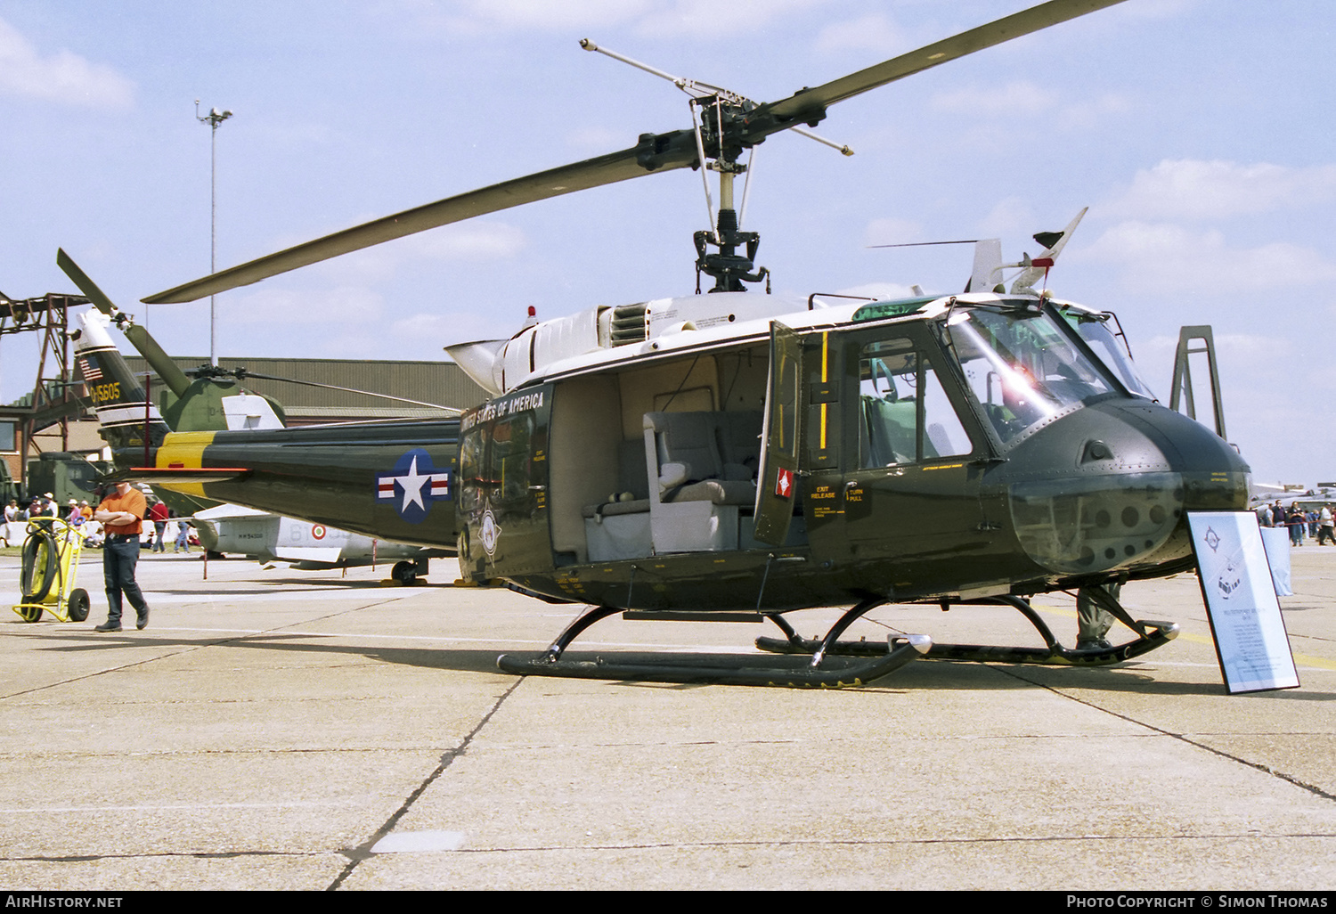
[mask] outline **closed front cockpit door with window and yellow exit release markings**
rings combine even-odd
[[[902,593],[959,580],[961,563],[989,544],[978,460],[986,444],[946,370],[949,355],[922,322],[824,343],[826,363],[838,367],[820,389],[843,428],[827,422],[827,444],[839,450],[814,461],[804,481],[814,557]],[[815,398],[818,385],[808,386]],[[815,456],[811,433],[808,441]]]

